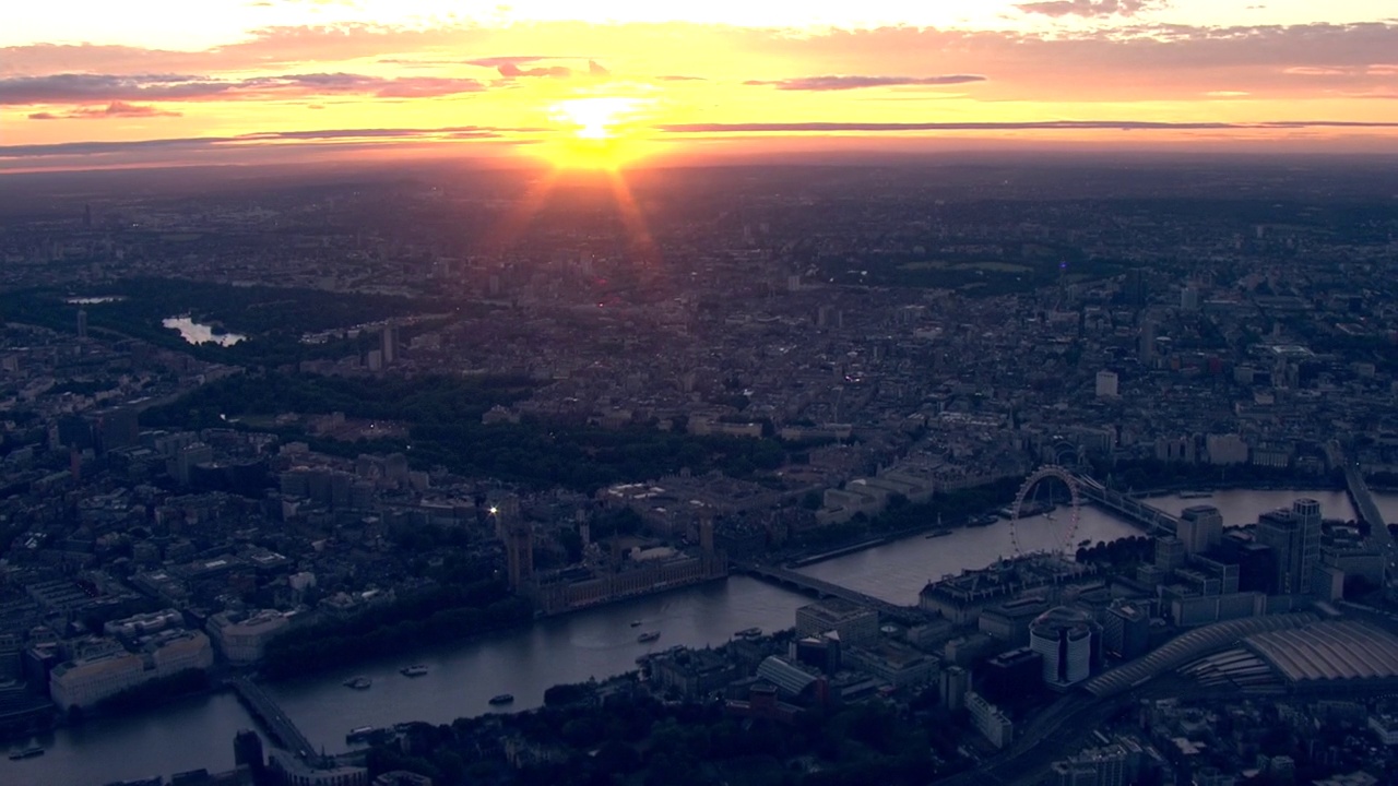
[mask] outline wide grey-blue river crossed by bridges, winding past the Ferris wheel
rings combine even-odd
[[[1220,491],[1211,498],[1153,499],[1179,512],[1188,505],[1213,505],[1227,524],[1257,520],[1274,508],[1290,506],[1297,496],[1321,502],[1323,515],[1355,516],[1349,499],[1335,491]],[[1398,519],[1398,494],[1376,495],[1390,520]],[[899,604],[913,604],[928,580],[963,568],[979,568],[1019,551],[1051,548],[1071,541],[1096,543],[1138,534],[1131,524],[1095,508],[1083,508],[1076,527],[1060,508],[1051,516],[1023,520],[1011,537],[1008,522],[958,530],[945,537],[910,538],[802,568],[804,572]],[[646,652],[674,645],[706,646],[727,642],[735,631],[790,628],[795,610],[811,599],[747,576],[663,596],[544,620],[530,628],[505,631],[391,660],[363,663],[315,678],[273,687],[273,695],[306,737],[329,752],[347,748],[344,736],[356,726],[389,726],[404,720],[449,723],[456,717],[492,712],[488,699],[513,694],[521,710],[542,703],[544,689],[559,683],[604,678],[635,669]],[[632,627],[632,621],[640,625]],[[637,632],[660,631],[660,641],[642,645]],[[424,677],[408,678],[398,669],[421,663]],[[370,677],[366,691],[341,683]],[[45,755],[0,759],[0,785],[102,786],[113,780],[169,776],[197,768],[233,766],[233,734],[256,729],[231,694],[200,696],[147,713],[60,729],[38,740]],[[21,745],[22,747],[22,745]]]

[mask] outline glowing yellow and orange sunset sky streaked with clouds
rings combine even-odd
[[[0,169],[1398,152],[1398,0],[50,0]]]

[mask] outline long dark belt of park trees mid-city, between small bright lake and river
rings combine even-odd
[[[246,415],[338,411],[352,418],[407,422],[408,438],[338,442],[309,435],[303,427],[278,434],[305,439],[331,455],[401,452],[415,469],[440,466],[464,476],[587,492],[684,469],[761,480],[788,456],[787,445],[776,439],[693,435],[661,431],[653,424],[603,428],[559,418],[481,422],[491,407],[507,406],[531,390],[530,380],[516,376],[327,378],[268,371],[206,385],[178,401],[145,410],[141,424],[228,428],[229,421]]]

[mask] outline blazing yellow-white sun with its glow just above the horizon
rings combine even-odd
[[[547,157],[569,169],[617,169],[640,157],[635,138],[642,98],[590,95],[555,103],[549,119],[563,136],[547,145]]]

